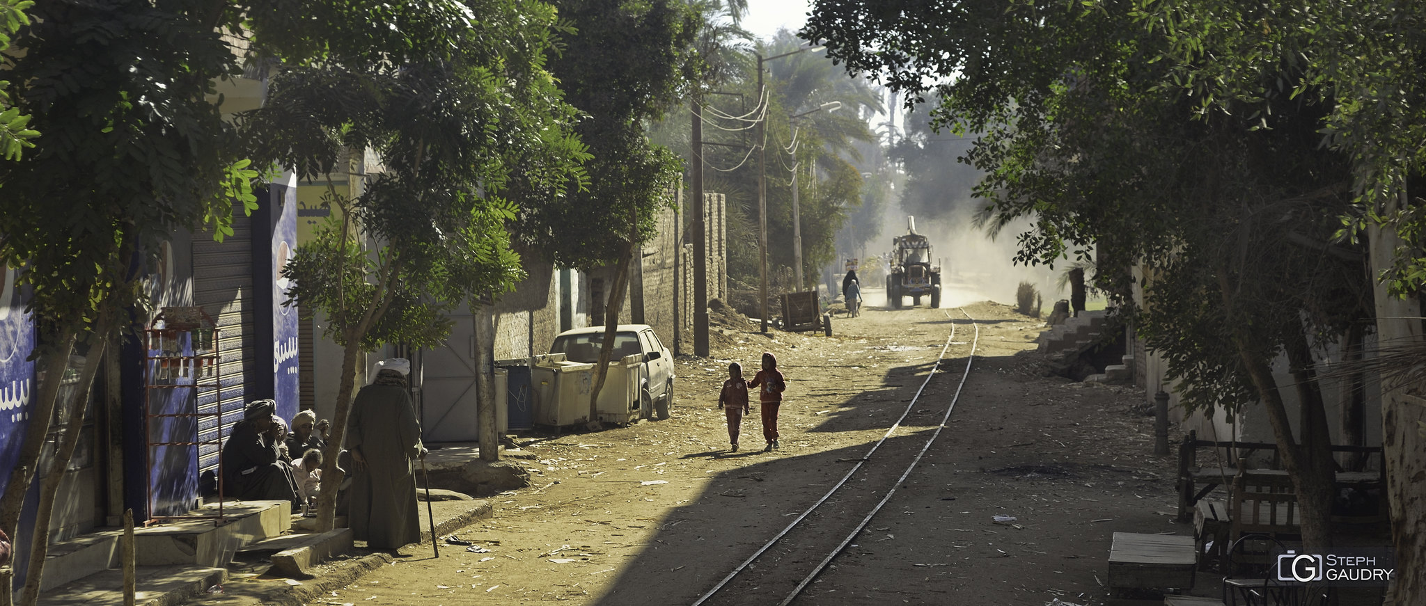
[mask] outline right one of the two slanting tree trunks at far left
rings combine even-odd
[[[80,381],[74,385],[74,395],[70,398],[68,419],[64,422],[64,435],[54,451],[50,469],[46,471],[44,483],[40,485],[40,508],[34,519],[34,538],[30,542],[30,568],[24,577],[24,596],[20,603],[33,606],[40,600],[40,582],[44,577],[44,558],[50,552],[50,518],[54,515],[54,498],[60,492],[60,482],[64,481],[64,469],[74,458],[74,448],[80,443],[80,432],[84,429],[84,411],[88,408],[90,392],[94,386],[94,374],[104,358],[108,346],[110,322],[100,321],[91,332],[97,339],[84,358],[84,368],[80,371]]]

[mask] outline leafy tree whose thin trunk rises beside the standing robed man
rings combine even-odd
[[[311,58],[282,70],[264,107],[242,115],[262,165],[321,180],[344,148],[372,148],[385,165],[354,198],[328,188],[341,218],[285,267],[295,282],[288,304],[325,312],[328,337],[344,346],[319,496],[324,529],[334,522],[335,463],[359,354],[385,342],[438,344],[451,328],[445,312],[512,289],[522,277],[505,231],[518,212],[515,195],[582,187],[578,163],[589,157],[570,133],[575,108],[545,64],[556,30],[552,6],[445,0],[345,9],[317,20],[325,44],[311,50],[281,36],[287,23],[255,29],[264,51]]]

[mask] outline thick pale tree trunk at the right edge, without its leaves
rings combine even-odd
[[[1406,198],[1405,188],[1400,197]],[[1397,200],[1389,198],[1383,217],[1399,210]],[[1389,271],[1396,250],[1403,247],[1400,235],[1389,225],[1368,227],[1368,251],[1372,275]],[[1416,299],[1392,297],[1387,284],[1373,281],[1376,299],[1376,335],[1382,345],[1406,345],[1422,339],[1422,309]],[[1386,496],[1392,516],[1392,542],[1396,546],[1397,575],[1387,590],[1387,603],[1426,603],[1426,495],[1420,482],[1426,478],[1426,441],[1417,433],[1417,422],[1426,421],[1426,406],[1406,394],[1400,382],[1382,384],[1382,459],[1386,465]]]

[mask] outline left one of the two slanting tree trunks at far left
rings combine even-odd
[[[30,404],[30,423],[24,429],[24,442],[20,448],[20,458],[10,471],[10,483],[0,498],[0,528],[11,540],[20,538],[20,510],[24,508],[24,495],[30,492],[30,482],[34,481],[34,471],[40,462],[40,452],[44,449],[44,438],[50,433],[50,419],[54,418],[54,402],[60,395],[60,381],[64,379],[64,369],[70,364],[70,349],[74,346],[74,329],[66,328],[56,339],[58,346],[44,359],[44,374],[40,375],[37,398]],[[13,570],[13,568],[11,568]],[[0,606],[10,606],[14,600],[14,573],[3,575],[0,579]]]

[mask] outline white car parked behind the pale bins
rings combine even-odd
[[[560,332],[550,345],[550,354],[565,354],[570,362],[599,364],[605,344],[605,327],[576,328]],[[645,416],[669,418],[673,405],[673,352],[663,346],[659,335],[647,324],[620,324],[615,328],[615,348],[610,362],[629,355],[642,355],[639,365],[639,408]]]

